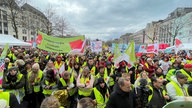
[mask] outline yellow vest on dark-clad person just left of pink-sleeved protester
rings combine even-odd
[[[59,80],[60,80],[62,86],[67,86],[67,83],[65,82],[65,80],[63,78],[60,78]],[[73,82],[74,82],[74,73],[71,73],[70,83],[73,83]],[[75,93],[75,89],[71,88],[68,92],[69,92],[69,95],[72,96]]]

